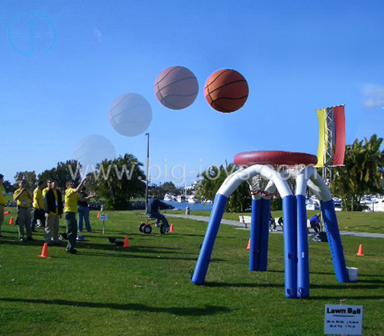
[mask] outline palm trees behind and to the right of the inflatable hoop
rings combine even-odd
[[[333,196],[342,198],[346,210],[361,210],[360,201],[364,195],[384,194],[384,150],[381,149],[382,145],[383,138],[374,134],[370,139],[356,139],[352,145],[346,146],[344,167],[334,168],[335,178],[331,185]],[[234,167],[233,163],[210,167],[208,171],[202,173],[198,193],[206,200],[213,201],[219,187],[228,176],[228,172],[234,172],[237,169],[239,167]],[[318,170],[318,173],[322,175],[321,169]],[[229,198],[226,211],[243,212],[250,208],[250,204],[250,188],[245,182]],[[280,209],[280,200],[272,200],[272,210]]]

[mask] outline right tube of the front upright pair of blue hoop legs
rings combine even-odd
[[[298,214],[298,297],[309,297],[309,256],[305,197],[296,195]]]

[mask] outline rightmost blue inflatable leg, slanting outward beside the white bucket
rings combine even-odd
[[[348,283],[349,277],[346,268],[346,261],[344,259],[343,245],[341,244],[339,224],[337,224],[335,204],[333,203],[333,200],[320,202],[320,204],[322,207],[324,225],[326,227],[326,236],[328,237],[329,249],[331,250],[333,268],[335,269],[337,281],[339,281],[339,283]]]

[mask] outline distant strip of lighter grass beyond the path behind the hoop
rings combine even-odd
[[[172,211],[171,213],[182,213],[185,211]],[[307,217],[320,213],[320,211],[308,211]],[[343,231],[357,231],[357,232],[372,232],[384,233],[384,213],[363,213],[359,211],[337,212],[337,220],[339,221],[339,228]],[[209,211],[191,211],[191,215],[209,216]],[[224,213],[224,219],[231,219],[239,221],[239,215],[248,215],[251,213]],[[282,217],[283,211],[272,211],[273,217]]]

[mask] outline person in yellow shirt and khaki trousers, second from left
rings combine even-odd
[[[31,211],[29,210],[29,205],[32,201],[32,196],[25,189],[25,181],[19,182],[19,189],[17,189],[13,194],[13,199],[17,204],[17,225],[19,226],[19,239],[20,241],[25,241],[24,239],[24,226],[27,230],[27,240],[32,241],[32,231],[31,231]]]

